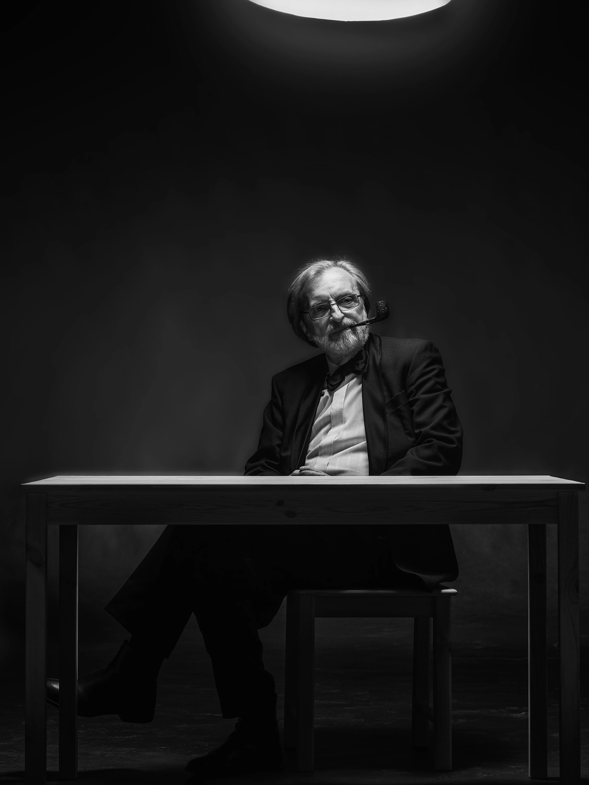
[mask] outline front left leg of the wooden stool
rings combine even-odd
[[[315,597],[298,596],[298,733],[296,769],[313,771],[315,701]]]

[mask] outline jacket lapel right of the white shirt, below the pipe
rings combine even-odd
[[[381,341],[379,335],[368,337],[368,368],[362,376],[362,408],[364,410],[364,431],[368,447],[368,474],[382,474],[386,468],[386,455],[389,449],[389,436],[386,427],[386,414],[382,378],[380,372]]]

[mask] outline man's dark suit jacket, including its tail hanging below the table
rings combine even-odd
[[[366,345],[362,377],[368,473],[456,474],[463,429],[452,403],[440,352],[431,341],[380,338]],[[325,375],[325,355],[312,357],[272,380],[258,450],[246,474],[291,474],[305,463]],[[397,567],[428,586],[458,577],[447,525],[387,527]]]

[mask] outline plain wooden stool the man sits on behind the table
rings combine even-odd
[[[452,769],[451,597],[455,589],[291,591],[287,597],[284,673],[284,747],[295,750],[298,772],[313,771],[315,619],[413,617],[412,743],[427,747],[434,723],[434,768]],[[430,618],[434,619],[434,712],[430,712],[428,666]]]

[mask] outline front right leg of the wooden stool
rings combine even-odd
[[[450,597],[435,599],[434,614],[434,769],[452,770],[452,658]]]

